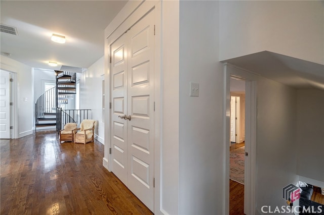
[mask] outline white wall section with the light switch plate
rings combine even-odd
[[[223,214],[223,65],[219,2],[180,1],[179,214]],[[189,82],[199,97],[189,96]]]

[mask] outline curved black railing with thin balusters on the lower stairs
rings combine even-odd
[[[46,90],[36,100],[35,103],[35,125],[39,118],[43,118],[45,113],[56,112],[56,87]]]

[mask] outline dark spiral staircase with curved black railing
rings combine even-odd
[[[55,70],[56,87],[38,97],[35,103],[35,130],[37,127],[56,126],[57,109],[76,94],[76,74]]]

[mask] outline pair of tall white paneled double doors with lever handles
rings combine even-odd
[[[112,172],[154,209],[154,14],[111,44]],[[124,119],[123,119],[124,118]]]

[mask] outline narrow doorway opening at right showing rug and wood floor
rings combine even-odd
[[[230,78],[229,214],[244,214],[245,80]]]

